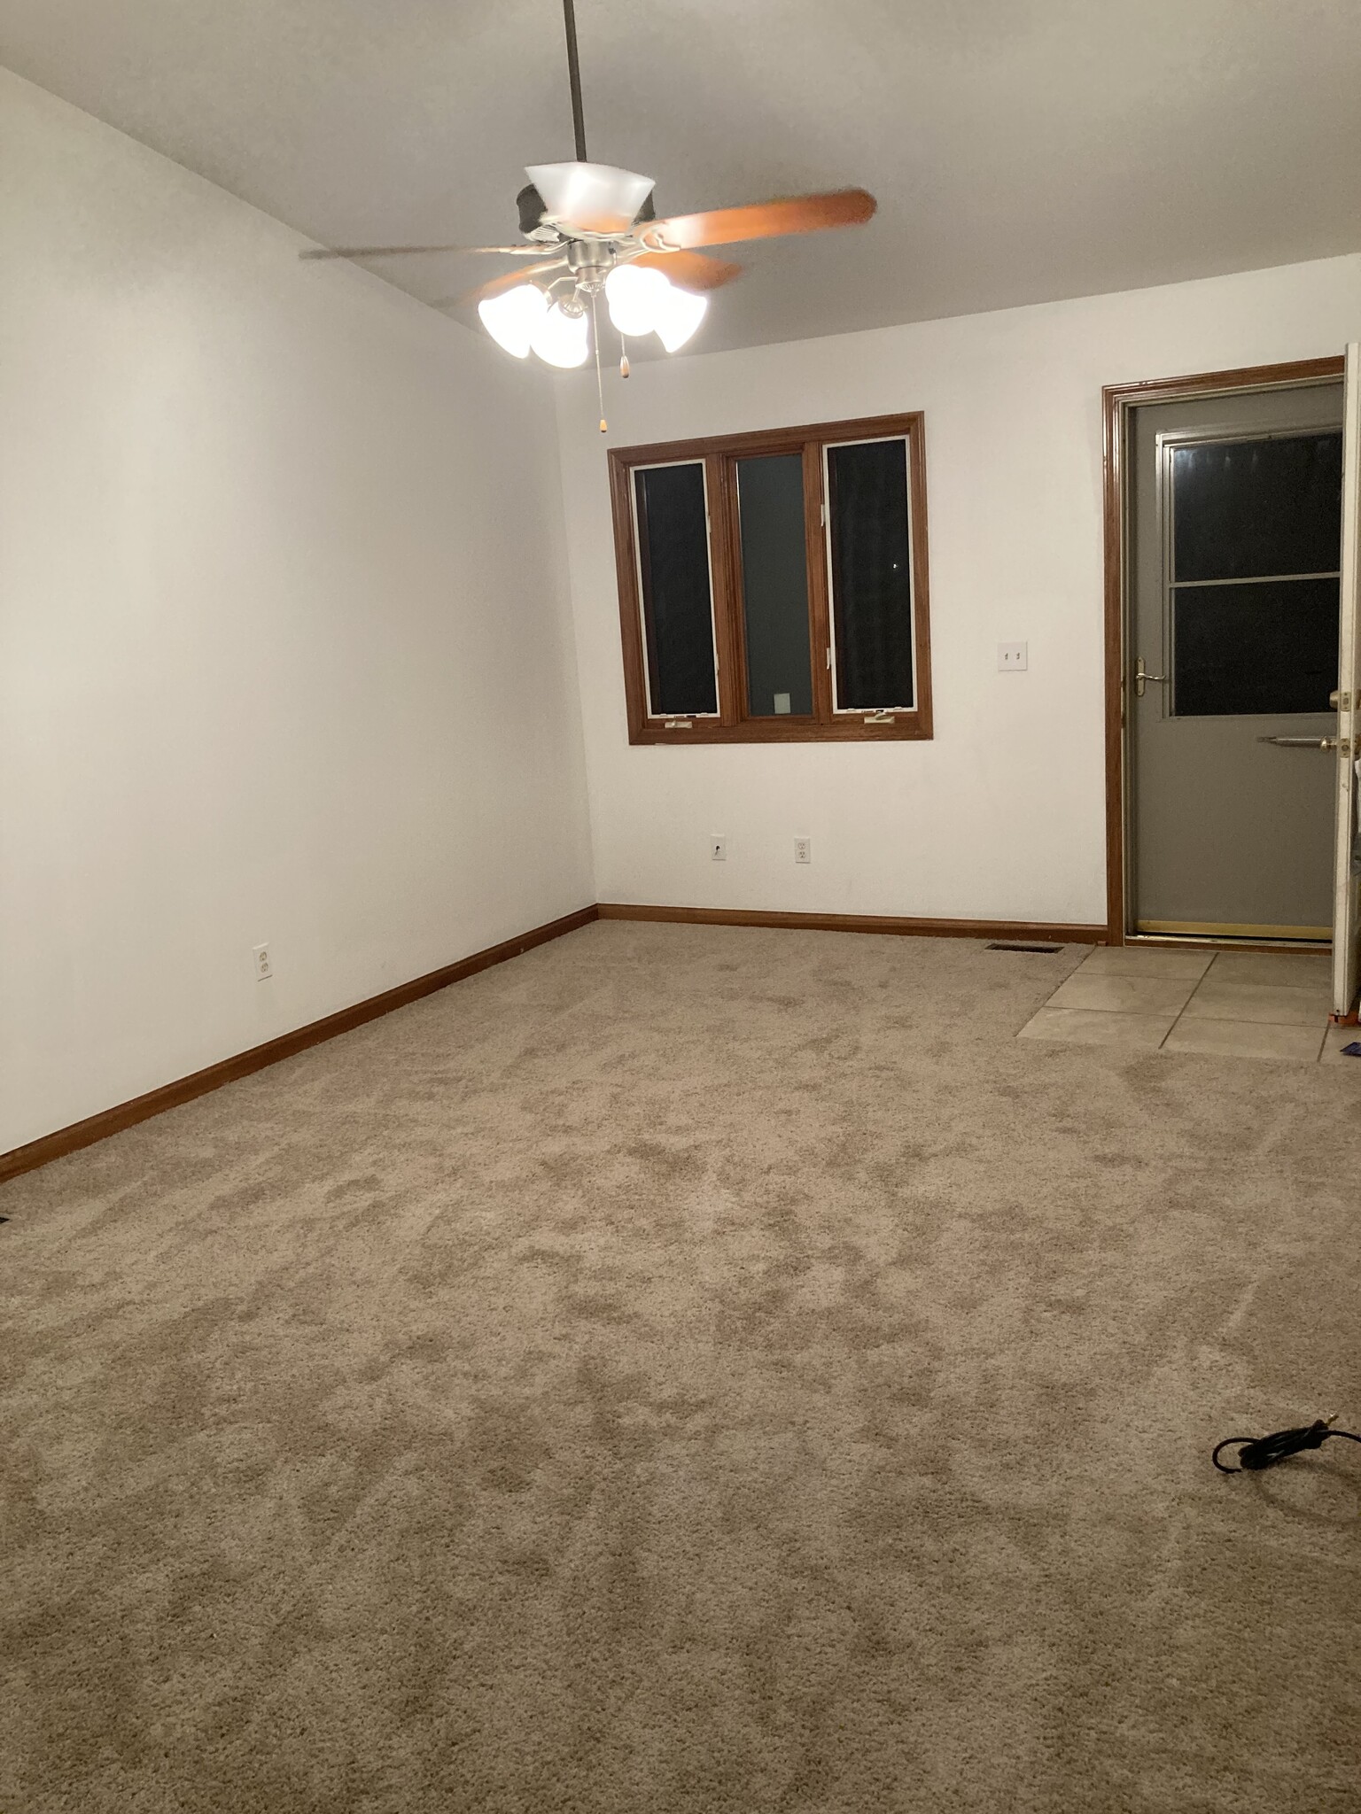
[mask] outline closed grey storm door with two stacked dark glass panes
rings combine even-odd
[[[1325,943],[1343,386],[1132,414],[1134,931]]]

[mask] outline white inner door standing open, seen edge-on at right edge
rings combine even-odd
[[[1345,1019],[1356,1009],[1361,983],[1361,345],[1356,341],[1346,348],[1337,668],[1332,1012]]]

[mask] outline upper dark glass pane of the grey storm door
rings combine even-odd
[[[1172,521],[1176,580],[1336,573],[1341,434],[1174,448]]]

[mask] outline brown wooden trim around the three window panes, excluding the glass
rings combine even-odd
[[[827,444],[844,441],[907,443],[907,497],[911,508],[913,559],[913,675],[916,704],[896,711],[891,722],[867,724],[866,715],[831,709],[831,673],[820,651],[831,646],[824,459]],[[731,472],[753,454],[800,454],[804,461],[804,533],[809,595],[809,660],[813,678],[811,717],[749,718],[746,715],[746,651],[742,613],[740,528],[733,508]],[[648,711],[642,657],[642,610],[633,541],[633,472],[679,461],[704,461],[710,508],[710,568],[713,575],[715,653],[719,660],[719,715],[691,718],[690,729],[668,727]],[[925,417],[866,415],[840,423],[806,423],[795,428],[760,428],[739,435],[706,435],[699,441],[659,441],[610,450],[610,499],[619,580],[619,637],[624,655],[624,698],[630,744],[878,744],[920,742],[931,736],[931,610],[925,513]]]

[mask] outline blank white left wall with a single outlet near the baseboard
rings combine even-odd
[[[552,379],[301,243],[0,73],[0,1150],[593,900]]]

